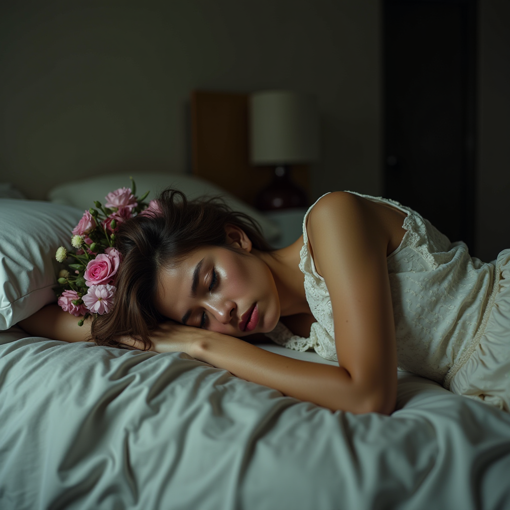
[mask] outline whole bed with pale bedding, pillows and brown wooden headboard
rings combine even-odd
[[[278,226],[247,203],[246,112],[245,94],[193,92],[193,175],[133,177],[149,198],[169,185],[221,193],[276,243]],[[257,172],[262,186],[270,171]],[[423,377],[398,373],[391,416],[333,413],[184,353],[23,333],[16,323],[55,301],[55,250],[93,200],[127,185],[91,177],[46,201],[0,185],[0,510],[510,509],[510,415]]]

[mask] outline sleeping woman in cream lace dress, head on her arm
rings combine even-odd
[[[156,203],[119,226],[111,312],[79,327],[48,305],[21,327],[186,352],[334,411],[392,413],[397,367],[510,411],[510,249],[482,263],[412,209],[352,192],[322,196],[277,250],[221,201],[167,190]],[[244,341],[257,334],[338,366]]]

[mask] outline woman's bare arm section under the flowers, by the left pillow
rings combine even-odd
[[[58,304],[48,304],[28,319],[19,321],[18,325],[29,335],[36,337],[64,342],[87,342],[90,338],[91,319],[87,319],[83,326],[79,326],[80,319],[83,317],[75,317],[64,312]]]

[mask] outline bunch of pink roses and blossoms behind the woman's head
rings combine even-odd
[[[147,208],[157,207],[153,200],[144,202],[149,192],[138,198],[136,186],[119,188],[108,193],[103,206],[95,201],[95,208],[85,211],[83,218],[74,227],[71,245],[75,251],[61,246],[55,255],[58,262],[72,257],[73,263],[58,275],[59,286],[55,289],[62,310],[84,318],[78,322],[83,326],[87,317],[103,315],[112,309],[115,298],[115,279],[122,262],[115,248],[115,234],[126,219],[142,213]]]

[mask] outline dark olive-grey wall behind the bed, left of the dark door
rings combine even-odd
[[[0,181],[189,170],[194,88],[317,96],[313,194],[378,194],[377,0],[45,0],[0,7]]]

